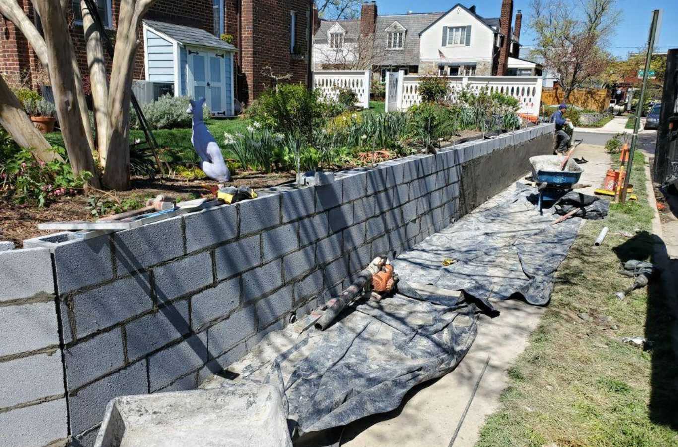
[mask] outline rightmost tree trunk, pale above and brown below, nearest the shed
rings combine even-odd
[[[108,157],[104,170],[106,187],[129,189],[129,100],[132,95],[136,31],[155,0],[121,0],[111,86],[108,90]]]

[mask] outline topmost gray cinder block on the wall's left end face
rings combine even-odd
[[[49,250],[0,250],[0,302],[30,298],[38,293],[54,294]]]

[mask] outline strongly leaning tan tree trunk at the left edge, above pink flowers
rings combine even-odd
[[[12,90],[9,90],[2,75],[0,75],[0,124],[9,132],[16,144],[31,148],[36,159],[45,163],[54,160],[63,161],[58,153],[52,151],[52,146],[28,119],[28,115]]]

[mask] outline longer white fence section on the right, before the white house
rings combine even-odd
[[[421,104],[419,94],[420,76],[405,76],[405,72],[386,74],[386,111],[406,111]],[[459,92],[471,90],[479,92],[487,88],[490,93],[500,92],[513,96],[519,102],[518,113],[539,115],[539,103],[542,98],[542,78],[523,76],[455,76],[447,77],[450,82],[450,94],[447,100],[456,102]],[[395,92],[394,92],[395,90]]]

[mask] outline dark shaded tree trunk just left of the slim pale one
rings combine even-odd
[[[90,183],[94,187],[99,187],[98,172],[77,100],[76,79],[73,73],[73,43],[68,33],[64,11],[54,0],[33,0],[33,5],[42,18],[54,105],[71,167],[76,175],[83,171],[91,172]]]

